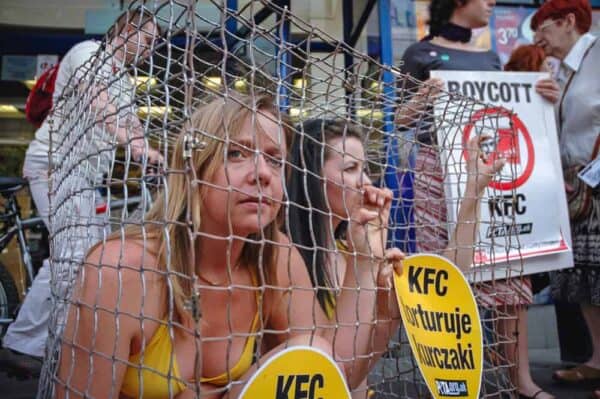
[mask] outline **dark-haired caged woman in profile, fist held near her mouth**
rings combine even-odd
[[[398,329],[392,268],[386,263],[397,263],[403,254],[386,248],[391,192],[371,184],[365,172],[365,138],[357,125],[314,119],[298,130],[290,154],[287,229],[318,289],[319,323],[329,325],[335,358],[344,364],[354,389]],[[463,222],[476,221],[483,190],[504,165],[502,160],[486,164],[478,156],[477,140],[469,142],[475,151],[469,151],[469,179],[459,211]],[[452,250],[445,254],[463,269],[473,257],[476,226],[459,223],[448,246]],[[383,290],[376,294],[378,288]]]

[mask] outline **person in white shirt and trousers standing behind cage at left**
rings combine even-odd
[[[87,89],[94,90],[94,93],[90,94],[97,94],[92,106],[99,111],[100,115],[114,117],[118,114],[120,118],[119,124],[111,121],[110,116],[102,122],[108,135],[114,137],[117,143],[127,144],[134,160],[142,161],[146,157],[148,163],[160,162],[162,156],[158,151],[151,147],[145,149],[143,127],[135,113],[133,98],[135,88],[129,80],[129,75],[124,72],[131,65],[148,58],[158,35],[159,28],[152,13],[144,8],[130,10],[122,14],[109,31],[106,48],[103,49],[100,42],[87,40],[75,45],[61,60],[53,93],[55,108],[36,131],[35,138],[27,149],[23,165],[23,176],[29,181],[31,196],[37,211],[50,232],[52,226],[49,222],[48,176],[51,158],[53,161],[57,159],[54,154],[49,154],[50,135],[54,134],[56,128],[61,123],[65,123],[65,120],[81,117],[81,115],[57,115],[56,105],[62,101],[61,96],[66,90],[74,89],[70,87],[73,81],[92,79],[90,68],[93,66],[101,65],[99,70],[93,72],[94,83],[86,82]],[[115,76],[120,78],[108,86],[108,82],[115,79]],[[54,130],[51,133],[52,126]],[[95,136],[94,139],[94,143],[86,144],[88,149],[104,146],[100,143],[101,138]],[[56,145],[64,138],[53,137],[53,140]],[[104,154],[108,153],[104,152]],[[82,209],[79,212],[82,218],[95,217],[94,194],[92,194],[95,191],[82,187],[88,186],[89,180],[103,176],[109,171],[105,162],[106,157],[103,159],[104,161],[97,163],[98,167],[93,168],[94,176],[80,179],[85,180],[81,187],[72,187],[74,190],[80,189],[82,193],[80,195]],[[69,183],[73,181],[70,180]],[[82,246],[87,248],[88,245],[93,244],[93,240],[99,239],[101,234],[101,232],[92,234],[89,240],[81,238],[82,242],[89,241]],[[80,252],[85,252],[86,248],[82,248]],[[22,378],[39,375],[52,311],[50,276],[50,264],[45,260],[25,297],[16,320],[10,324],[2,340],[0,370],[8,374]]]

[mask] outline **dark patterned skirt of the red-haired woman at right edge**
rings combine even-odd
[[[571,223],[575,267],[551,274],[552,295],[570,303],[600,306],[600,198],[592,215]]]

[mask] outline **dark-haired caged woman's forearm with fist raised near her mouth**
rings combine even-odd
[[[392,193],[368,186],[364,203],[352,212],[348,227],[349,251],[337,297],[333,343],[335,360],[344,365],[348,384],[357,387],[387,350],[397,331],[398,306],[392,289],[392,271],[401,272],[404,254],[386,250],[387,221]]]

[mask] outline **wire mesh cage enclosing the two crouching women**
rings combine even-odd
[[[486,244],[458,216],[476,201],[466,186],[512,178],[492,176],[510,113],[481,113],[268,1],[133,3],[82,45],[91,57],[51,115],[55,311],[40,396],[236,397],[269,353],[309,342],[331,345],[355,397],[430,397],[397,316],[375,309],[377,270],[392,247],[466,268],[477,250],[518,250],[510,231]],[[477,139],[475,156],[456,156],[478,112],[488,150]],[[480,223],[511,224],[498,219]],[[522,288],[515,264],[471,274],[482,397],[514,391],[502,325]]]

